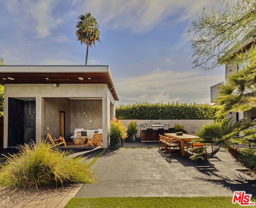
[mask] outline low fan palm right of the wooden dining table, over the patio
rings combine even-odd
[[[241,119],[235,122],[233,118],[215,120],[213,123],[202,126],[196,131],[199,139],[196,142],[202,142],[213,145],[213,151],[208,152],[208,158],[214,156],[220,148],[226,148],[234,160],[249,170],[256,170],[256,121],[248,122]],[[252,128],[254,127],[254,128]],[[242,136],[238,137],[238,134]],[[249,144],[250,148],[238,149],[234,145],[236,140],[242,140],[243,143]],[[206,147],[205,147],[206,148]],[[190,156],[192,160],[205,156],[205,149],[198,149],[199,154]],[[196,150],[195,150],[196,151]]]

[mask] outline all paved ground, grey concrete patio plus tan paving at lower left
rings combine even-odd
[[[124,148],[108,148],[92,166],[98,176],[95,184],[71,184],[64,190],[19,188],[11,195],[13,190],[0,187],[0,206],[62,208],[72,197],[232,196],[234,191],[256,196],[256,180],[238,171],[244,168],[226,150],[210,160],[192,161],[180,155],[164,158],[157,146],[158,142],[124,142]],[[86,149],[75,152],[85,154]],[[99,152],[87,152],[84,158],[89,163]]]

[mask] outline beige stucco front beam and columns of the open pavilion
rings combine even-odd
[[[4,86],[4,148],[8,146],[8,98],[36,98],[36,138],[44,129],[44,98],[102,98],[103,148],[108,147],[110,101],[115,99],[107,84],[6,84]]]

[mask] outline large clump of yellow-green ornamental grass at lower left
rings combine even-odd
[[[95,182],[94,171],[82,159],[82,156],[73,157],[72,151],[51,148],[45,140],[25,144],[19,153],[9,155],[0,165],[0,185],[31,188]]]

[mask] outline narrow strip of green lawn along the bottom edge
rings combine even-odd
[[[256,202],[251,198],[250,202]],[[72,198],[65,208],[229,208],[241,207],[232,204],[232,196],[213,197],[97,197]],[[255,206],[242,206],[255,207]]]

